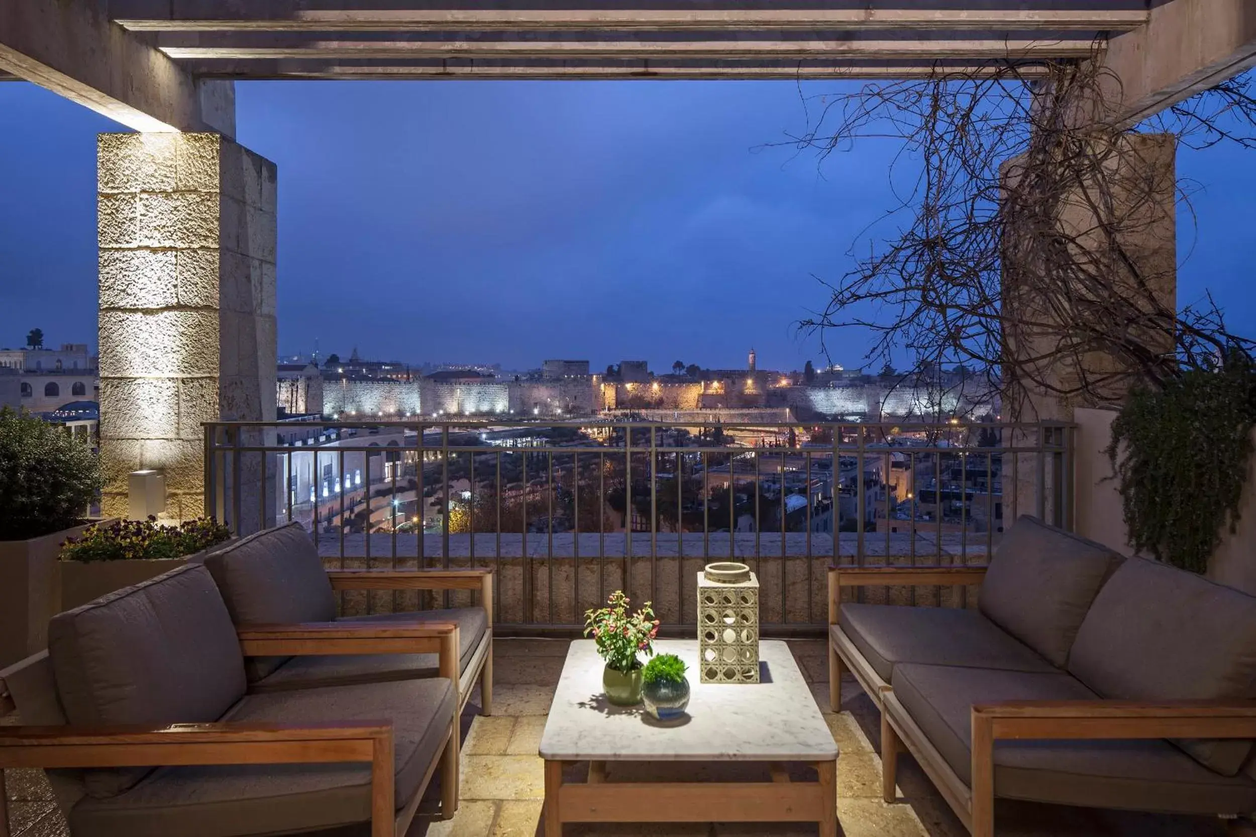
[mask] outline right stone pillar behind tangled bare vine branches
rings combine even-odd
[[[1104,276],[1114,299],[1119,294],[1125,300],[1138,300],[1143,314],[1168,311],[1173,315],[1177,311],[1176,141],[1168,134],[1122,134],[1115,142],[1122,144],[1107,156],[1107,188],[1079,183],[1059,198],[1056,228],[1080,248],[1083,255],[1079,259]],[[1007,173],[1009,178],[1016,177],[1016,161],[1009,163]],[[1110,223],[1109,218],[1115,220],[1115,228],[1124,231],[1110,243],[1099,233],[1104,223]],[[1029,235],[1041,236],[1044,232],[1031,230]],[[1061,397],[1051,388],[1014,380],[1005,370],[1004,418],[1071,423],[1075,408],[1119,407],[1129,387],[1139,380],[1139,369],[1125,365],[1128,361],[1123,358],[1100,348],[1050,356],[1064,331],[1058,324],[1066,323],[1066,317],[1074,314],[1078,317],[1093,317],[1094,314],[1059,311],[1044,305],[1041,296],[1035,294],[1040,271],[1035,265],[1025,264],[1034,261],[1032,256],[1016,259],[1021,251],[1019,245],[1014,240],[1005,251],[1006,351],[1021,359],[1044,358],[1036,364],[1034,378],[1050,381],[1061,390],[1075,390],[1081,376],[1100,384],[1090,388],[1090,395]],[[1034,247],[1027,251],[1032,253]],[[1104,292],[1103,287],[1085,290],[1091,297]],[[1107,312],[1108,309],[1100,299],[1093,310]],[[1172,329],[1149,325],[1153,321],[1148,319],[1132,324],[1129,335],[1161,354],[1172,353]],[[1030,430],[1007,435],[1016,447],[1034,447],[1040,440],[1039,434]],[[1055,440],[1063,442],[1065,432],[1055,432]],[[1070,435],[1071,440],[1075,438]],[[1015,469],[1012,457],[1016,458]],[[1069,463],[1053,461],[1050,456],[1044,461],[1032,453],[1004,454],[1004,486],[1015,486],[1011,496],[1005,491],[1005,527],[1011,525],[1014,509],[1020,514],[1042,513],[1048,521],[1073,522],[1073,509],[1081,498],[1075,497],[1069,506],[1061,502],[1068,499],[1069,492],[1060,491],[1061,486],[1074,488],[1068,486],[1075,478]],[[1040,494],[1045,494],[1042,503],[1039,502]]]

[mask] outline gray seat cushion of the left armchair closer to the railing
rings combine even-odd
[[[460,671],[466,671],[480,640],[484,639],[487,619],[482,607],[457,607],[453,610],[421,610],[374,616],[350,616],[345,622],[457,622],[460,645]],[[344,685],[350,683],[379,683],[435,678],[440,669],[436,654],[344,654],[327,656],[294,656],[266,678],[251,684],[250,691],[265,693],[280,689],[309,689],[314,686]],[[470,688],[470,683],[462,686]]]

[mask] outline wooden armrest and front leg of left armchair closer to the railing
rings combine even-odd
[[[492,570],[328,570],[332,590],[471,590],[480,591],[484,607],[484,637],[471,655],[466,675],[453,684],[458,690],[458,714],[466,709],[476,680],[480,681],[480,714],[492,714]],[[352,624],[352,622],[350,622]],[[443,675],[442,675],[443,676]]]

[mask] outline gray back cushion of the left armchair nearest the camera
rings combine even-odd
[[[245,693],[235,626],[198,565],[58,614],[48,654],[65,718],[78,727],[212,722]],[[122,793],[151,769],[88,770],[87,792]]]

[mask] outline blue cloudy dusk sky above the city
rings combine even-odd
[[[279,349],[539,365],[821,360],[795,323],[894,206],[897,146],[818,166],[789,82],[247,83],[239,141],[279,166]],[[813,102],[814,107],[814,102]],[[95,134],[0,84],[0,346],[95,343]],[[1256,335],[1256,152],[1183,151],[1178,295]],[[879,227],[882,231],[891,231]],[[857,366],[868,338],[828,338]]]

